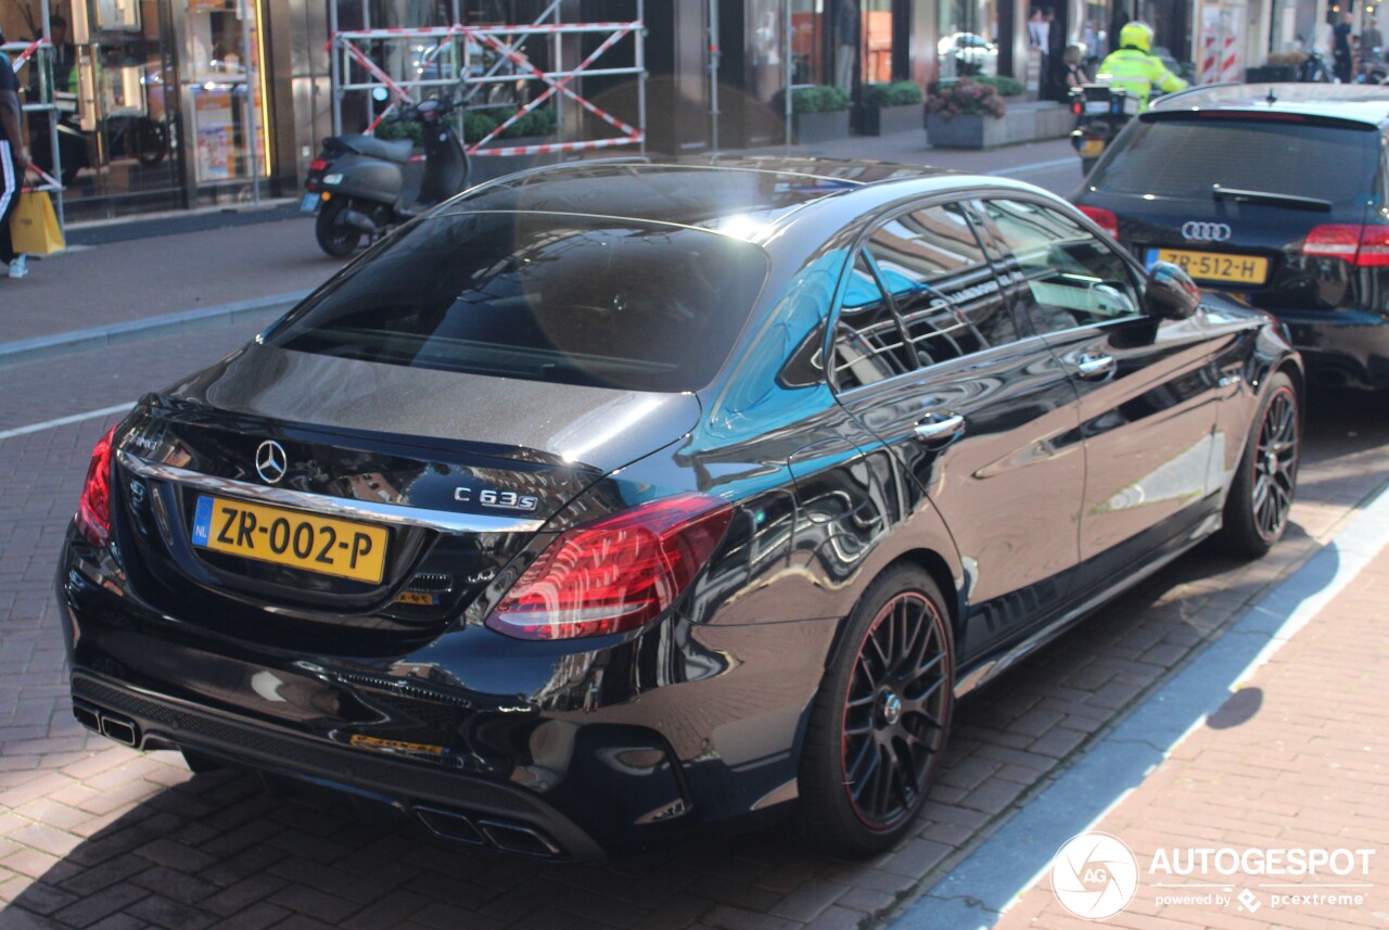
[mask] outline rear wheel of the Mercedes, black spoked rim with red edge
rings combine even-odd
[[[810,844],[865,856],[911,829],[954,709],[947,616],[914,566],[885,572],[849,615],[800,761],[797,826]]]

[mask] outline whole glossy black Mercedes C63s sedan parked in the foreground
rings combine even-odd
[[[1283,533],[1260,311],[1036,187],[603,162],[461,194],[97,446],[86,726],[546,858],[911,830],[956,700]]]

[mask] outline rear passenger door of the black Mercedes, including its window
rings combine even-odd
[[[860,240],[835,318],[832,380],[954,537],[965,661],[1060,608],[1079,558],[1076,393],[1028,337],[957,203],[925,203]]]

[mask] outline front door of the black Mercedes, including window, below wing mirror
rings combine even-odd
[[[1218,375],[1197,318],[1140,311],[1142,278],[1064,208],[986,198],[1013,307],[1079,391],[1081,559],[1090,586],[1174,548],[1218,511]]]

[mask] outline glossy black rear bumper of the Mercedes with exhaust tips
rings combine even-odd
[[[674,616],[649,641],[538,644],[469,626],[401,657],[321,655],[201,627],[196,602],[183,619],[165,615],[72,532],[56,587],[88,727],[557,859],[660,847],[795,798],[824,654],[788,651],[788,627],[822,648],[833,634],[807,622],[692,636]],[[774,668],[733,651],[775,657]]]

